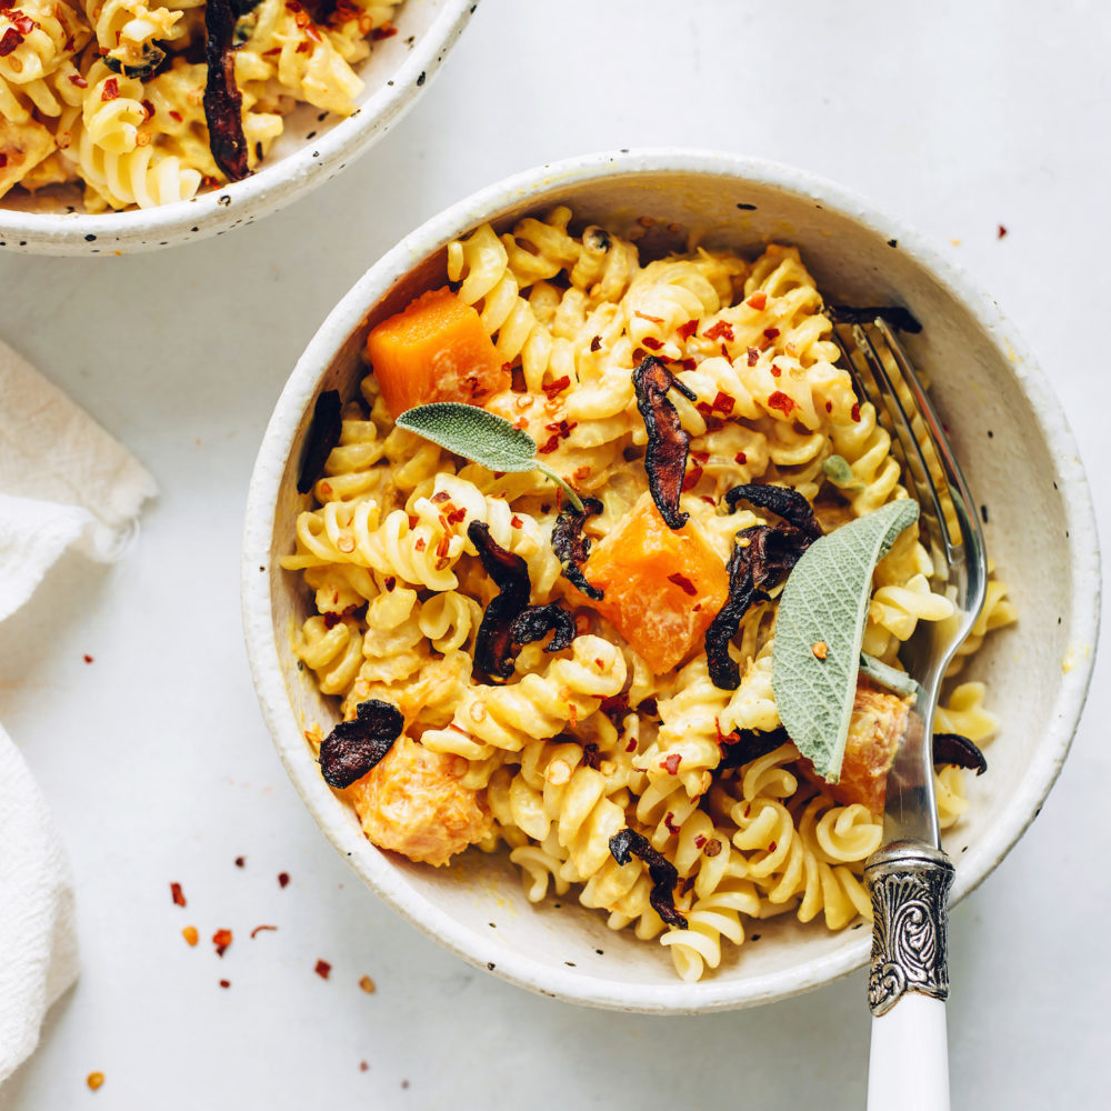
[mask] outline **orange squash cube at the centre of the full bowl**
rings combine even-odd
[[[655,674],[700,644],[725,603],[729,575],[718,553],[688,522],[669,529],[644,494],[584,565],[605,597],[589,601]]]

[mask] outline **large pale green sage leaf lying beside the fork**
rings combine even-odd
[[[872,571],[917,520],[918,502],[903,498],[815,540],[780,597],[775,705],[788,735],[831,783],[841,778]]]

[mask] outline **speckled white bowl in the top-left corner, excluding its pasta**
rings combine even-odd
[[[222,236],[336,177],[416,103],[462,33],[478,0],[407,0],[398,33],[356,67],[364,82],[347,119],[301,104],[259,171],[188,201],[152,209],[81,210],[78,186],[0,199],[0,249],[26,254],[131,254]]]

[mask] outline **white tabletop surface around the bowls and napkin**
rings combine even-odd
[[[943,244],[1054,382],[1105,524],[1109,40],[1100,0],[483,0],[402,124],[291,209],[157,254],[0,254],[0,334],[162,491],[123,562],[67,559],[0,627],[0,720],[68,844],[83,951],[0,1107],[862,1107],[862,974],[704,1018],[589,1011],[476,972],[360,885],[254,700],[248,477],[302,348],[404,232],[531,164],[689,144],[815,170]],[[1105,1105],[1103,664],[1041,818],[953,915],[958,1108]]]

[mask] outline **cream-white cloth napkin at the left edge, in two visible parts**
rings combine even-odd
[[[154,480],[87,413],[0,343],[0,621],[69,547],[118,559]],[[0,1083],[77,979],[69,865],[47,804],[0,728]]]

